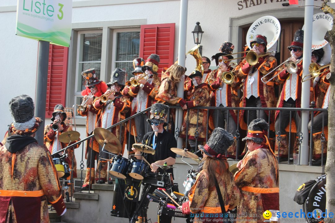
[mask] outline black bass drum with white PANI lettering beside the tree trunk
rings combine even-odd
[[[303,204],[307,222],[323,221],[322,212],[326,211],[326,175],[318,177],[316,181],[317,183],[312,187]],[[308,214],[308,212],[312,213],[312,215]]]

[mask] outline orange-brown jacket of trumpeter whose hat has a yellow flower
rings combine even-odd
[[[156,102],[155,96],[158,92],[159,85],[160,80],[157,75],[153,75],[152,78],[147,80],[145,85],[141,84],[140,86],[131,87],[129,89],[128,94],[131,97],[136,97],[136,113],[149,108]]]

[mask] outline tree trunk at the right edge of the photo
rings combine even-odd
[[[335,10],[327,5],[327,0],[323,3],[324,13],[332,14],[335,18]],[[333,24],[335,20],[333,19]],[[329,42],[331,51],[335,52],[335,25],[330,31],[327,31],[325,39]],[[327,215],[330,212],[335,214],[335,57],[331,54],[330,60],[331,77],[330,82],[330,98],[328,104],[328,147],[327,162],[325,167],[326,173],[326,210]],[[334,218],[325,218],[325,222],[333,222]]]

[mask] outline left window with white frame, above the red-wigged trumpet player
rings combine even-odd
[[[75,103],[81,104],[81,91],[85,89],[85,80],[81,72],[94,68],[98,79],[100,78],[102,31],[79,32],[76,65]]]

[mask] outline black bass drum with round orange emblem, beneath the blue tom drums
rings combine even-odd
[[[125,180],[115,179],[111,216],[130,219],[136,209],[139,191],[137,188],[130,186],[132,184],[131,180],[127,179],[126,182],[127,185]]]

